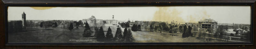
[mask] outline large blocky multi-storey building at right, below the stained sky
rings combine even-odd
[[[213,19],[204,19],[198,21],[198,28],[202,29],[211,29],[212,32],[215,32],[217,29],[218,22]]]

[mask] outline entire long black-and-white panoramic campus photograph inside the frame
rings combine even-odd
[[[7,10],[8,43],[251,42],[250,6],[81,6]]]

